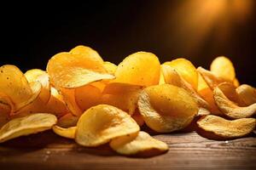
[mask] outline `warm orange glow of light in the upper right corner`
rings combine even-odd
[[[172,26],[183,50],[195,53],[202,48],[207,37],[222,42],[230,37],[234,25],[245,24],[253,11],[253,0],[187,0],[180,3],[172,16]],[[174,28],[173,28],[174,27]]]

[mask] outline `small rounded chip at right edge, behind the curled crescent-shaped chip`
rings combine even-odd
[[[236,93],[246,105],[253,105],[256,103],[256,88],[247,84],[242,84],[236,88]]]

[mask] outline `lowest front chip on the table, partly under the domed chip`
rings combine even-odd
[[[140,131],[130,136],[112,139],[110,147],[122,155],[135,155],[141,152],[158,150],[158,154],[166,152],[168,145],[158,139],[152,138],[148,133]]]

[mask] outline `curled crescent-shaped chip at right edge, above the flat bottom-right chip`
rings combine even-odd
[[[213,97],[219,110],[230,118],[240,119],[253,116],[256,113],[256,104],[240,107],[230,101],[218,87],[214,88]]]

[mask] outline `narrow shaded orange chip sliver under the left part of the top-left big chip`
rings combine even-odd
[[[76,101],[75,88],[58,88],[59,92],[63,96],[63,100],[67,105],[67,109],[75,116],[79,116],[83,111],[79,108]]]

